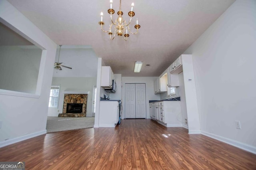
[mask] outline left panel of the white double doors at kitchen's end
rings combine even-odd
[[[136,118],[135,84],[125,84],[125,118]]]

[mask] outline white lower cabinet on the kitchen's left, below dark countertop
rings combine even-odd
[[[115,127],[119,121],[118,101],[100,101],[100,127]]]

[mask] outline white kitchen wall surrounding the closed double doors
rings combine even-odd
[[[150,100],[160,100],[159,95],[155,95],[154,94],[154,80],[157,77],[122,77],[122,99],[123,99],[123,103],[122,103],[122,107],[123,107],[123,111],[122,111],[122,119],[124,119],[124,115],[125,115],[125,89],[124,89],[124,85],[125,83],[146,83],[146,115],[147,115],[147,119],[150,119],[150,115],[149,115],[149,101]]]

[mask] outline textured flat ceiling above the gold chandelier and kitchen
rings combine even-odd
[[[127,42],[113,41],[100,30],[110,17],[109,0],[8,0],[58,45],[91,45],[98,57],[122,76],[159,76],[181,55],[234,0],[123,0],[128,20],[134,2],[135,17],[141,28]],[[119,1],[113,0],[118,11]],[[113,19],[117,14],[113,15]],[[105,30],[107,28],[105,27]],[[143,61],[140,73],[133,73],[135,61]],[[70,63],[71,64],[71,63]],[[150,64],[150,67],[145,67]]]

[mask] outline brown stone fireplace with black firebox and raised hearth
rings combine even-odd
[[[86,117],[87,94],[64,94],[62,113],[58,117]]]

